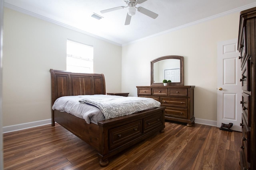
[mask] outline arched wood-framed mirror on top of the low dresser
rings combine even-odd
[[[159,57],[150,62],[151,86],[163,86],[162,81],[171,80],[168,85],[184,85],[183,57],[169,55]]]

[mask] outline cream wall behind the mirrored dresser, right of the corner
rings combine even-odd
[[[184,56],[184,85],[194,90],[196,119],[217,119],[217,43],[238,37],[239,13],[184,27],[122,47],[122,92],[150,86],[150,61]]]

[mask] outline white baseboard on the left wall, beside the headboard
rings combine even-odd
[[[3,133],[19,131],[19,130],[23,130],[23,129],[29,129],[32,127],[38,127],[38,126],[42,126],[42,125],[49,125],[51,123],[52,123],[52,119],[46,119],[46,120],[22,123],[22,124],[18,124],[18,125],[5,126],[5,127],[3,127]]]

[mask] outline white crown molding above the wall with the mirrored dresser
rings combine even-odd
[[[253,8],[253,7],[256,7],[256,2],[252,3],[252,4],[249,4],[249,5],[246,5],[246,6],[242,6],[242,7],[239,7],[239,8],[235,8],[233,10],[229,10],[229,11],[226,11],[226,12],[223,12],[223,13],[220,13],[220,14],[217,14],[217,15],[214,15],[214,16],[210,16],[208,18],[204,18],[202,20],[197,20],[197,21],[194,21],[194,22],[191,22],[191,23],[187,23],[185,25],[181,25],[181,26],[178,26],[178,27],[175,27],[175,28],[172,28],[172,29],[168,29],[166,31],[162,31],[160,33],[156,33],[156,34],[153,34],[153,35],[150,35],[150,36],[147,36],[147,37],[143,37],[141,39],[137,39],[135,41],[130,41],[128,43],[124,43],[122,44],[122,46],[125,46],[125,45],[129,45],[129,44],[133,44],[133,43],[136,43],[136,42],[139,42],[139,41],[144,41],[146,39],[149,39],[151,37],[156,37],[158,35],[163,35],[163,34],[166,34],[166,33],[170,33],[172,31],[176,31],[178,29],[182,29],[182,28],[185,28],[185,27],[189,27],[191,25],[196,25],[198,23],[202,23],[202,22],[206,22],[206,21],[210,21],[210,20],[214,20],[216,18],[220,18],[220,17],[223,17],[223,16],[227,16],[229,14],[233,14],[233,13],[236,13],[236,12],[241,12],[243,10],[247,10],[247,9],[250,9],[250,8]]]

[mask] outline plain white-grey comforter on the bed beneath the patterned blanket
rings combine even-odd
[[[79,100],[82,100],[85,98],[92,99],[92,100],[102,100],[102,99],[109,99],[109,98],[137,98],[137,97],[111,96],[111,95],[103,95],[103,94],[63,96],[58,98],[54,102],[52,109],[70,113],[76,117],[84,119],[88,124],[94,123],[97,125],[98,121],[105,120],[105,117],[102,111],[100,111],[98,107],[79,102]],[[145,98],[145,99],[149,99],[149,98]],[[150,99],[150,100],[154,100],[154,99]],[[156,100],[154,101],[157,102]],[[160,106],[160,102],[157,102],[157,104]],[[159,106],[156,106],[156,107],[159,107]]]

